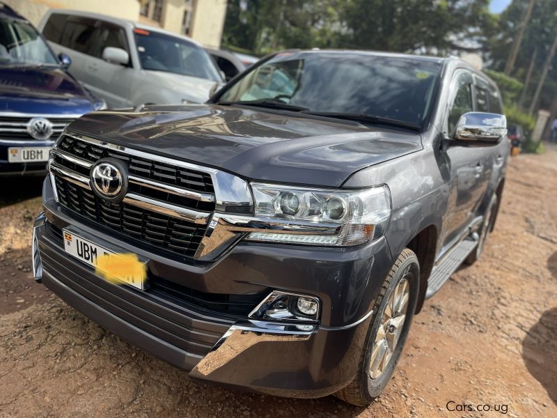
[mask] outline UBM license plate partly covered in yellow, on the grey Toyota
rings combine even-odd
[[[94,242],[81,238],[75,233],[64,230],[63,234],[65,252],[71,254],[75,258],[78,258],[84,263],[87,263],[88,265],[92,265],[94,268],[97,268],[98,258],[107,255],[116,255],[114,251],[111,251],[109,249],[101,247],[100,245],[95,244]],[[143,263],[140,263],[139,261],[136,261],[136,263],[140,264],[141,268],[143,268]],[[134,267],[137,268],[138,266],[136,265]],[[139,270],[141,270],[141,268]],[[109,279],[108,277],[104,278],[108,281],[111,281],[112,283],[123,282],[143,291],[143,277],[141,279],[138,279],[136,271],[137,269],[131,268],[130,274],[119,274],[118,279]]]

